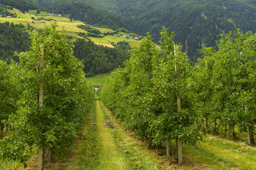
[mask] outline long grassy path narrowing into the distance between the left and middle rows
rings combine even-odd
[[[118,125],[101,101],[96,101],[92,112],[90,124],[84,128],[86,139],[77,163],[70,169],[161,169],[148,150]]]

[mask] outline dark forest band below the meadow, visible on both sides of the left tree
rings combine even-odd
[[[25,52],[31,45],[24,25],[9,22],[0,23],[0,42],[0,59],[14,59],[17,62],[19,57],[14,52]],[[118,66],[124,66],[123,62],[129,59],[127,50],[131,46],[126,41],[115,46],[116,48],[109,48],[85,39],[77,39],[74,42],[74,56],[84,61],[84,72],[87,76],[109,73]]]

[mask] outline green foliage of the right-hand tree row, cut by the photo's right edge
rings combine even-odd
[[[196,110],[202,122],[209,120],[214,132],[225,127],[225,132],[234,138],[235,126],[246,132],[256,123],[256,36],[237,32],[234,38],[231,32],[223,36],[218,52],[205,48],[205,58],[195,67]]]

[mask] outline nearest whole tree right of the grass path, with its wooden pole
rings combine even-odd
[[[182,164],[182,142],[195,144],[200,140],[200,133],[195,121],[197,115],[193,110],[192,67],[188,56],[181,52],[181,46],[175,45],[174,33],[166,28],[161,31],[161,55],[154,60],[154,82],[156,95],[161,100],[162,113],[156,119],[160,133],[167,141],[174,139],[177,143],[177,157]],[[155,127],[154,127],[155,128]]]

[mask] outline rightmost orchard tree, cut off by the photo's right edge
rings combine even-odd
[[[236,75],[236,92],[234,92],[234,99],[236,99],[236,116],[237,125],[240,131],[248,132],[248,143],[253,144],[253,130],[256,124],[256,35],[252,32],[241,34],[238,31],[234,45],[236,49],[237,66],[234,67],[234,74]]]

